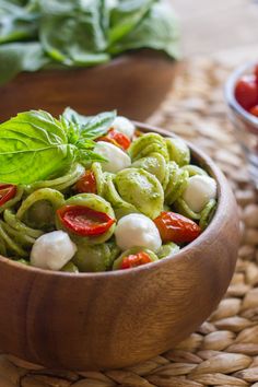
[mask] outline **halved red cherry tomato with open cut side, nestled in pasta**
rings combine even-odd
[[[105,234],[115,223],[105,212],[98,212],[85,206],[63,206],[57,210],[61,223],[80,236]]]

